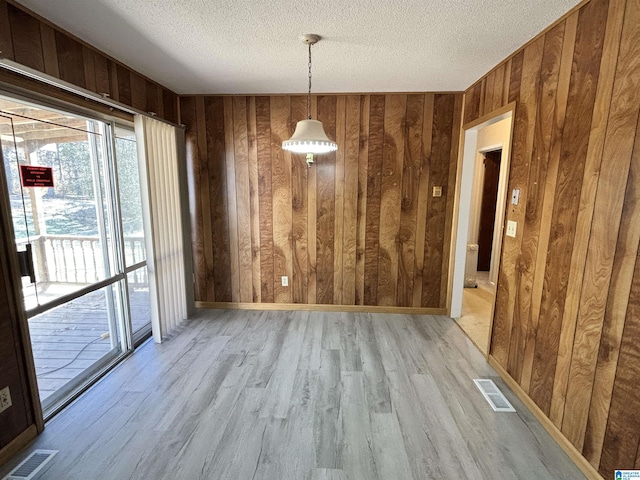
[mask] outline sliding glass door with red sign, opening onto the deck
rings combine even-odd
[[[0,97],[0,143],[46,417],[150,329],[135,137]]]

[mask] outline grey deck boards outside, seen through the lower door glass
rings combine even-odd
[[[150,321],[149,294],[132,288],[129,297],[136,331]],[[40,400],[44,401],[111,351],[104,290],[29,319],[29,331]],[[118,348],[117,340],[115,343]]]

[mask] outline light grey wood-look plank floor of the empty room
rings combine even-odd
[[[474,378],[517,409],[495,413]],[[584,478],[449,318],[199,311],[35,448],[40,479]]]

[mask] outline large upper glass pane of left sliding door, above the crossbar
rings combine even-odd
[[[52,119],[43,112],[40,117]],[[64,116],[56,119],[72,123]],[[35,282],[24,281],[27,311],[110,275],[113,242],[102,201],[103,142],[89,131],[93,123],[76,119],[73,127],[54,125],[25,118],[17,107],[0,114],[16,240],[19,249],[31,245],[35,266]],[[7,141],[11,135],[13,142]],[[25,166],[50,168],[54,186],[24,186]]]

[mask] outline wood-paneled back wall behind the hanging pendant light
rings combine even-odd
[[[461,109],[314,96],[339,150],[307,168],[281,148],[306,97],[181,97],[196,300],[444,308]]]

